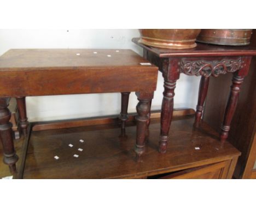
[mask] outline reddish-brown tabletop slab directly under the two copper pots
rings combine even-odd
[[[169,57],[217,57],[217,56],[256,56],[255,46],[220,46],[197,43],[195,48],[189,49],[165,49],[146,46],[138,42],[139,38],[133,38],[132,42],[153,52],[160,58]]]

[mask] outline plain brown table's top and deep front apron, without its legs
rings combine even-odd
[[[12,49],[0,57],[1,97],[152,92],[157,77],[131,50]]]

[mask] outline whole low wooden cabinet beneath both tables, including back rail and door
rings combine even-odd
[[[15,178],[230,179],[240,152],[228,142],[220,143],[218,133],[207,124],[195,129],[194,114],[194,109],[174,109],[172,139],[166,154],[160,154],[160,112],[153,112],[141,162],[133,153],[136,114],[126,121],[125,138],[119,137],[117,116],[31,123],[28,137],[14,141],[20,155]],[[75,158],[78,148],[83,151]],[[9,174],[8,166],[0,163],[0,177]]]

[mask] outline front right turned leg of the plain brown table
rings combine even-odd
[[[137,121],[137,136],[136,136],[136,159],[140,161],[141,155],[145,151],[146,132],[148,129],[150,101],[153,99],[154,92],[151,93],[139,93],[136,92],[138,97],[138,105],[136,110],[138,115],[135,117]]]

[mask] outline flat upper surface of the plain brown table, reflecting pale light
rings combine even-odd
[[[0,71],[154,67],[145,62],[132,50],[11,49],[0,57]]]

